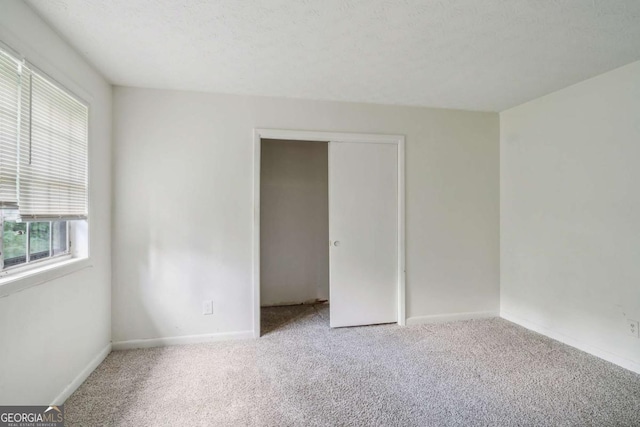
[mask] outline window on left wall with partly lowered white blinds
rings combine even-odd
[[[0,271],[70,258],[88,217],[87,106],[0,48]]]

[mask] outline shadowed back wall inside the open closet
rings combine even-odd
[[[260,304],[329,299],[327,142],[263,139]]]

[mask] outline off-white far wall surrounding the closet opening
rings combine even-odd
[[[254,128],[405,135],[407,315],[497,314],[498,119],[115,87],[114,344],[252,330]]]

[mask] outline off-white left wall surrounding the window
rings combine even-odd
[[[24,2],[1,2],[0,40],[90,104],[90,267],[0,298],[0,405],[46,405],[110,345],[111,86]]]

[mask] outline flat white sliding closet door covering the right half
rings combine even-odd
[[[331,327],[398,320],[398,146],[329,144]]]

